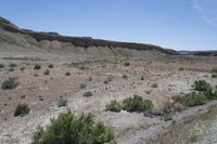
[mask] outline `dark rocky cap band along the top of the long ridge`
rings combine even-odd
[[[49,40],[49,41],[60,41],[60,42],[69,42],[75,47],[108,47],[108,48],[125,48],[125,49],[132,49],[132,50],[155,50],[164,54],[175,55],[178,54],[174,50],[163,49],[158,45],[153,44],[142,44],[142,43],[135,43],[135,42],[118,42],[118,41],[108,41],[102,39],[92,39],[91,37],[68,37],[68,36],[61,36],[58,32],[44,32],[44,31],[34,31],[29,29],[22,29],[10,21],[0,17],[0,28],[10,32],[28,35],[35,38],[37,41]]]

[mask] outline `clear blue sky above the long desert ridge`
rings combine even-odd
[[[217,50],[217,0],[0,0],[0,16],[37,31]]]

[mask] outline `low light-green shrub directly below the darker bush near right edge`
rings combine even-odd
[[[203,93],[188,93],[182,97],[182,104],[186,106],[196,106],[206,104],[207,97]]]

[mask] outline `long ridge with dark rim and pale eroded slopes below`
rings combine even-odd
[[[21,29],[8,19],[0,17],[0,29],[1,42],[11,41],[10,44],[18,44],[24,47],[40,47],[44,49],[69,49],[72,48],[75,51],[79,51],[85,54],[94,54],[106,53],[107,55],[123,55],[126,56],[135,56],[141,55],[145,51],[153,51],[161,54],[175,55],[178,54],[176,51],[163,49],[157,45],[152,44],[141,44],[141,43],[132,43],[132,42],[117,42],[117,41],[107,41],[101,39],[92,39],[91,37],[67,37],[61,36],[58,32],[38,32],[27,29]],[[14,43],[12,42],[14,41]],[[23,43],[22,43],[23,42]],[[80,49],[80,50],[77,50]],[[85,49],[86,51],[81,50]],[[92,49],[92,50],[89,50]],[[88,51],[87,51],[88,50]],[[108,52],[111,51],[111,52]],[[129,52],[127,52],[129,51]],[[73,52],[73,51],[72,51]],[[120,52],[120,53],[119,53]],[[131,52],[131,54],[130,54]]]

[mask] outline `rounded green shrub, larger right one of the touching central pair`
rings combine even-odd
[[[153,103],[150,100],[143,100],[141,96],[133,95],[123,101],[123,109],[127,112],[145,112],[153,108]]]

